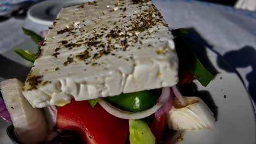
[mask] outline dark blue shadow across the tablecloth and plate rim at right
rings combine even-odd
[[[256,101],[256,51],[252,46],[244,46],[240,50],[230,51],[225,53],[223,56],[220,56],[217,51],[213,49],[214,46],[210,45],[195,28],[186,28],[189,31],[188,35],[185,35],[185,38],[190,43],[193,52],[196,54],[197,58],[202,62],[202,64],[211,71],[212,74],[216,74],[217,70],[212,66],[210,60],[206,55],[206,47],[213,50],[217,53],[217,64],[219,68],[229,72],[236,73],[240,77],[243,85],[246,87],[245,82],[243,81],[240,74],[236,71],[236,68],[245,68],[251,67],[252,71],[246,75],[246,80],[248,81],[247,91],[251,95],[252,100]],[[227,67],[223,63],[223,59],[226,63],[230,65]]]

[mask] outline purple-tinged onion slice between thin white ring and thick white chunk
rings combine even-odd
[[[158,99],[158,102],[163,103],[163,105],[158,111],[155,112],[155,118],[161,117],[171,109],[173,103],[173,96],[174,95],[171,87],[162,88],[162,93]]]

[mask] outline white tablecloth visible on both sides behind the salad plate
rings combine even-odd
[[[241,75],[256,99],[256,13],[191,0],[155,0],[170,28],[192,28]],[[0,53],[28,37],[21,26],[43,31],[48,26],[28,19],[0,22]]]

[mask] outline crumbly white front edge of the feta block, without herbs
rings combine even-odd
[[[65,77],[65,79],[59,79],[38,89],[22,93],[33,107],[45,107],[47,105],[63,106],[68,104],[72,98],[77,101],[89,100],[120,93],[170,87],[179,81],[178,56],[176,52],[173,52],[168,58],[169,62],[156,61],[151,65],[135,65],[131,74],[125,74],[122,70],[115,70],[110,72],[111,75],[92,77],[92,79],[96,78],[99,81],[97,85],[88,82],[84,77],[77,80],[72,77]],[[148,74],[144,73],[145,71]],[[144,83],[136,82],[143,79],[141,78],[143,75],[148,78],[147,81]]]

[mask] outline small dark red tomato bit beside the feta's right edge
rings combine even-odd
[[[194,79],[194,76],[185,67],[183,62],[179,62],[179,83],[178,83],[178,85],[189,84],[193,81],[193,79]]]

